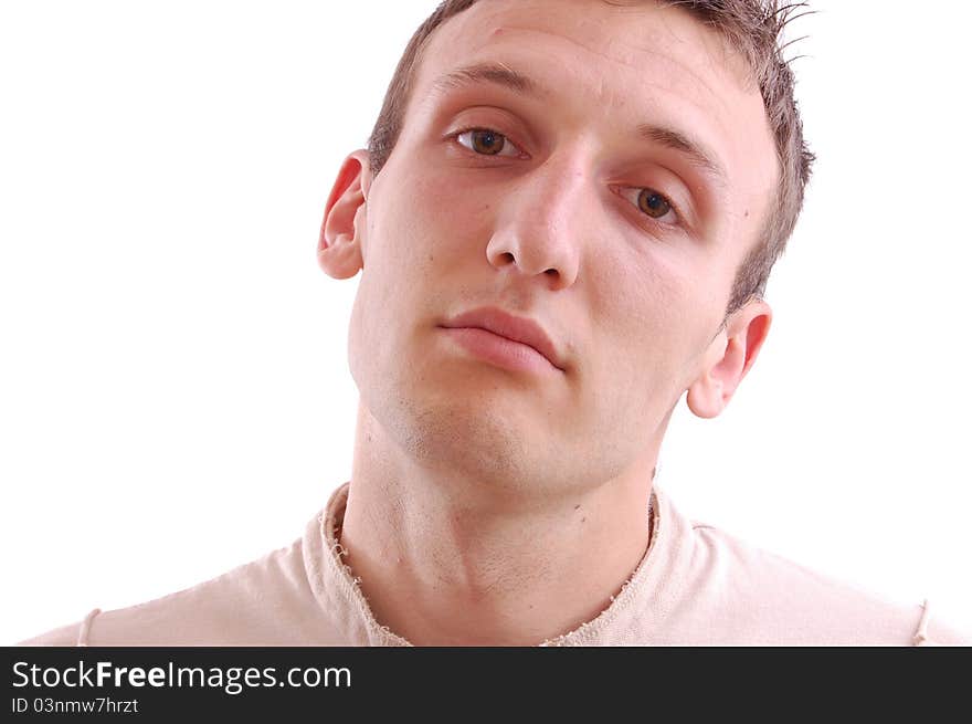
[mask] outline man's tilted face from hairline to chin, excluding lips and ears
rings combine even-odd
[[[366,183],[349,339],[361,402],[409,457],[524,494],[651,471],[776,181],[743,73],[653,3],[482,0],[434,33]],[[484,306],[537,322],[562,369],[442,327]]]

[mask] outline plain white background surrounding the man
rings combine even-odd
[[[972,9],[813,3],[820,159],[691,517],[972,630]],[[350,472],[324,202],[433,0],[0,4],[0,642],[288,545]]]

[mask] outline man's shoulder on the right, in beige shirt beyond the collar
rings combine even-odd
[[[691,523],[689,588],[721,609],[726,636],[758,644],[959,644],[928,601],[900,604],[740,537]]]

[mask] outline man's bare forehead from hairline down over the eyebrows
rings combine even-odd
[[[410,109],[484,63],[536,81],[530,94],[562,124],[604,137],[652,124],[698,139],[751,207],[775,182],[775,143],[744,60],[686,11],[651,0],[479,0],[429,39]]]

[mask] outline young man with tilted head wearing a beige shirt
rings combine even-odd
[[[447,1],[318,256],[361,273],[351,481],[287,548],[47,644],[912,644],[898,608],[693,524],[683,394],[757,359],[812,156],[758,0]]]

